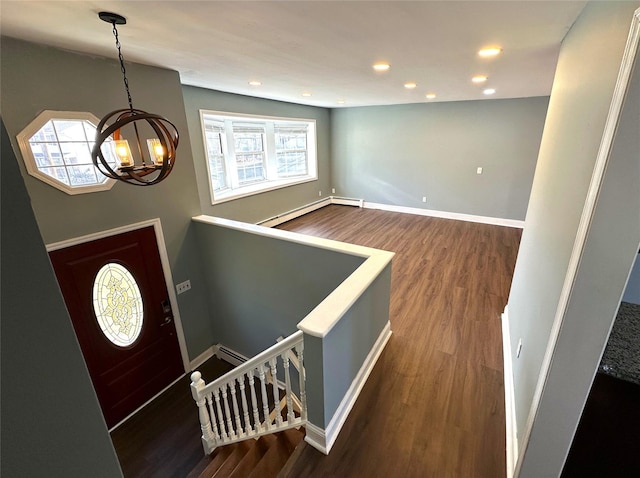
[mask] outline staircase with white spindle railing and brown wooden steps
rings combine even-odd
[[[207,456],[189,477],[283,476],[304,438],[303,364],[298,331],[209,384],[194,372],[191,393]]]

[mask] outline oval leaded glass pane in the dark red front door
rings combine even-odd
[[[131,272],[115,262],[103,266],[93,282],[93,310],[105,337],[119,347],[133,344],[142,331],[144,312]]]

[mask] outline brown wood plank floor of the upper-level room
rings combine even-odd
[[[328,206],[281,229],[396,252],[393,335],[329,456],[287,476],[505,476],[500,313],[519,229]]]

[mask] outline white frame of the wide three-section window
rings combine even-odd
[[[214,192],[213,183],[211,181],[211,170],[209,165],[209,156],[207,151],[207,138],[205,132],[205,124],[204,124],[204,116],[212,115],[219,117],[223,120],[254,120],[254,121],[277,121],[277,122],[306,122],[310,125],[310,128],[313,129],[313,138],[314,141],[310,141],[307,143],[307,165],[308,172],[304,176],[295,176],[291,178],[283,178],[283,179],[272,179],[267,181],[257,182],[255,184],[248,184],[246,186],[238,187],[235,189],[226,189],[224,191]],[[292,118],[292,117],[284,117],[284,116],[265,116],[265,115],[252,115],[252,114],[242,114],[242,113],[230,113],[227,111],[215,111],[215,110],[200,110],[200,129],[202,131],[202,141],[203,141],[203,149],[204,149],[204,157],[205,163],[207,166],[207,182],[209,184],[209,194],[211,198],[211,204],[216,205],[227,201],[233,201],[235,199],[240,199],[247,196],[253,196],[255,194],[261,194],[268,191],[273,191],[276,189],[294,186],[297,184],[304,184],[311,181],[318,180],[318,160],[317,160],[317,128],[316,128],[316,120],[307,119],[307,118]],[[265,144],[267,148],[274,148],[272,143],[272,138],[269,137],[269,134],[266,135]],[[223,143],[224,150],[224,143]],[[225,157],[227,152],[225,151]],[[269,163],[266,164],[267,171],[269,171]],[[227,174],[230,172],[227,171]],[[267,173],[268,174],[268,173]]]

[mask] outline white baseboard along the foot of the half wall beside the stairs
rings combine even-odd
[[[331,418],[331,421],[329,421],[326,429],[322,429],[312,423],[307,423],[305,425],[307,429],[305,441],[316,450],[324,453],[325,455],[328,455],[331,451],[344,422],[349,416],[349,412],[351,412],[353,405],[356,403],[356,400],[362,391],[362,387],[364,387],[367,378],[369,378],[369,375],[378,361],[380,354],[382,354],[384,347],[387,345],[391,334],[391,322],[387,321],[387,324],[384,329],[382,329],[382,332],[380,332],[376,343],[369,351],[362,367],[360,367],[360,370],[358,371],[358,375],[356,375],[353,382],[351,382],[349,390],[347,390],[347,393],[340,402],[340,405],[338,405],[338,408],[333,414],[333,417]]]

